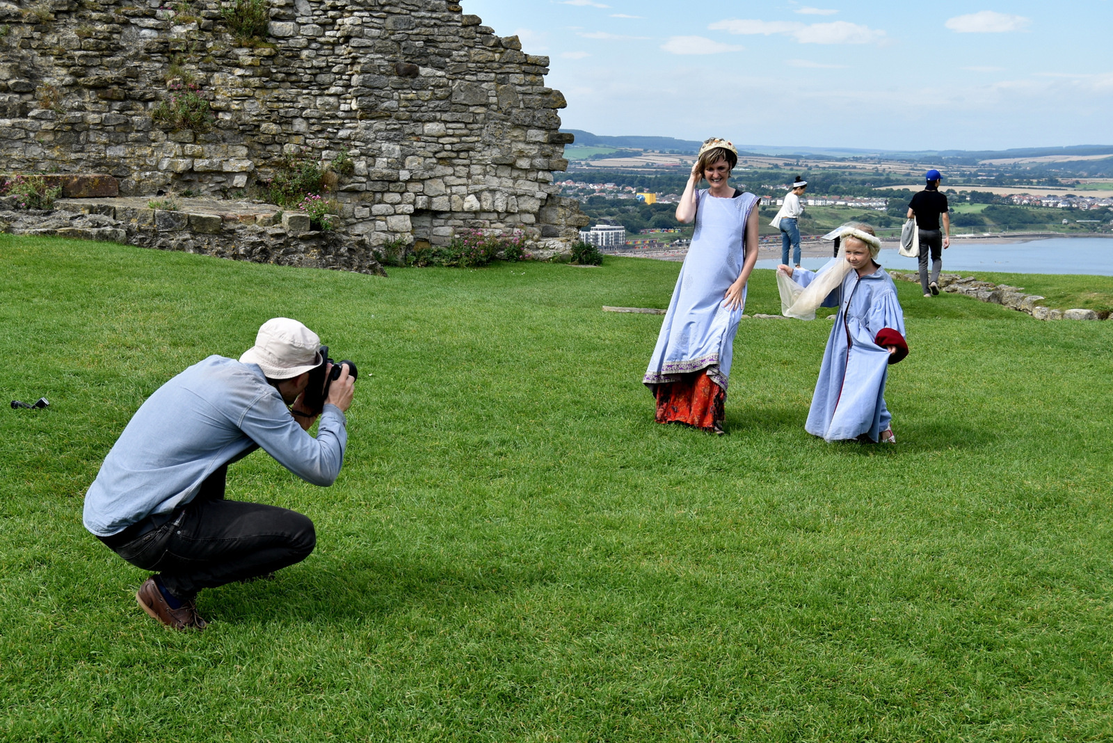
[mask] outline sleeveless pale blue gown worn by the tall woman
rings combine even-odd
[[[717,198],[706,189],[699,192],[692,244],[642,379],[651,390],[700,369],[727,389],[742,307],[727,309],[722,303],[742,273],[746,220],[755,204],[757,197],[749,192],[736,198]],[[743,305],[745,300],[743,288]]]

